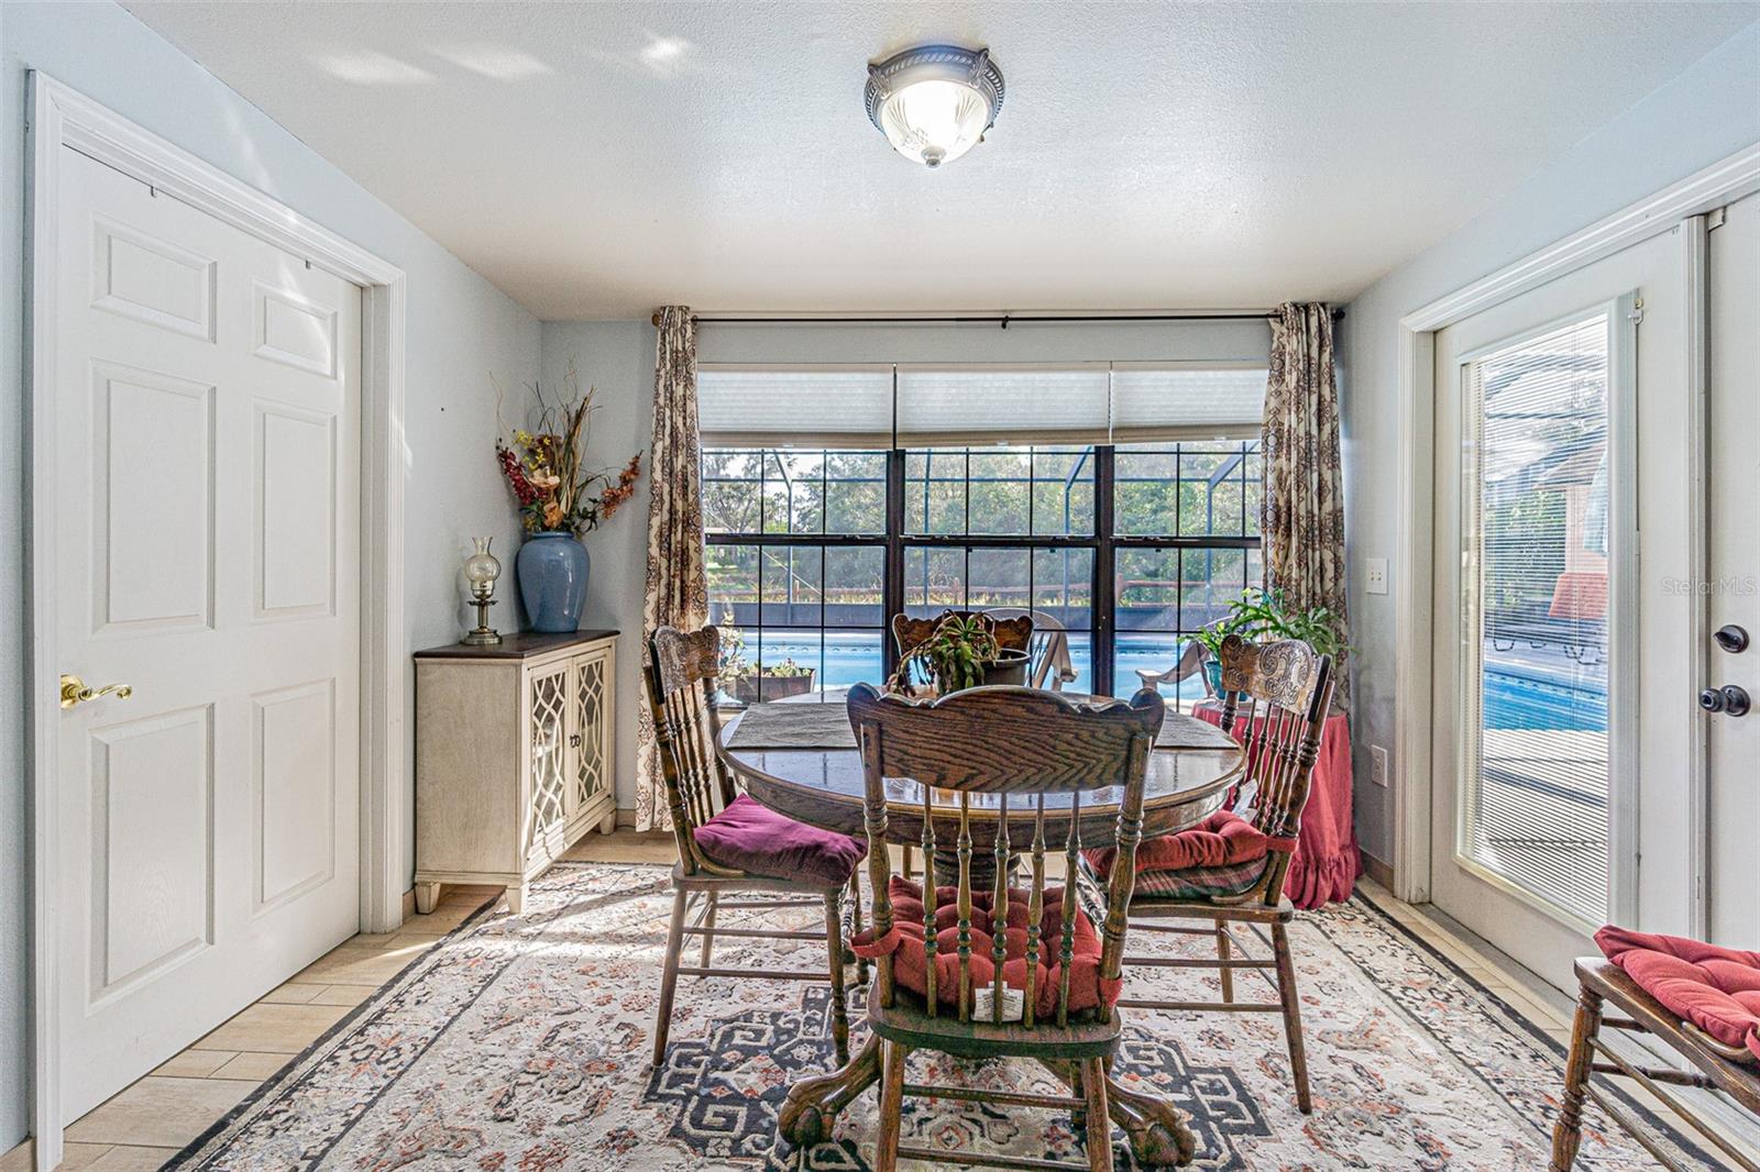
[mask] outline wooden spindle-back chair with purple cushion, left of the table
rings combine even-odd
[[[642,676],[648,683],[648,702],[655,723],[655,748],[660,774],[665,781],[667,809],[672,815],[672,838],[678,845],[678,866],[672,871],[672,919],[667,931],[665,968],[660,978],[660,1010],[655,1026],[653,1061],[665,1058],[667,1031],[672,1019],[672,996],[683,977],[753,977],[769,980],[831,982],[831,1029],[838,1063],[848,1061],[848,1005],[843,987],[843,894],[845,885],[799,876],[781,878],[752,875],[709,859],[697,843],[697,831],[734,802],[737,792],[732,773],[715,751],[718,722],[711,697],[720,670],[720,632],[704,626],[683,632],[662,626],[648,644],[648,665]],[[859,892],[855,876],[848,887]],[[737,899],[759,892],[764,899]],[[734,897],[729,897],[734,896]],[[695,919],[690,917],[695,905]],[[783,931],[718,927],[716,915],[723,910],[778,910],[822,906],[825,931]],[[861,926],[861,906],[855,910]],[[700,963],[681,964],[686,936],[702,938]],[[715,968],[715,940],[824,940],[827,968],[799,970],[736,970]]]

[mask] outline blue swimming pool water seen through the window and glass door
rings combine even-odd
[[[759,656],[757,632],[746,628],[746,658]],[[818,686],[836,688],[862,679],[880,679],[880,632],[829,630],[824,642],[818,632],[766,630],[762,662],[794,660],[803,667],[818,669]],[[1112,669],[1112,692],[1132,695],[1140,681],[1137,669],[1163,672],[1179,658],[1179,635],[1126,634],[1118,639],[1118,660]],[[1088,692],[1093,679],[1093,646],[1088,632],[1070,632],[1070,663],[1075,681],[1070,692]],[[1163,686],[1167,699],[1200,700],[1204,681],[1193,676],[1179,685]],[[1507,662],[1494,649],[1485,649],[1484,723],[1487,729],[1542,729],[1570,732],[1600,732],[1607,729],[1605,669],[1586,669],[1570,660],[1558,667],[1531,662]]]

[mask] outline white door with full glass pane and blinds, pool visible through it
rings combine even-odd
[[[1436,336],[1433,899],[1559,987],[1603,922],[1693,919],[1684,257]]]

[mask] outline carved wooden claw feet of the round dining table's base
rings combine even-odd
[[[1070,1063],[1047,1061],[1045,1068],[1065,1084],[1074,1086],[1075,1068]],[[878,1080],[880,1038],[869,1035],[862,1049],[852,1054],[841,1070],[803,1079],[788,1088],[788,1096],[776,1116],[776,1130],[797,1147],[824,1144],[831,1139],[838,1112]],[[1112,1116],[1112,1123],[1125,1130],[1125,1139],[1130,1142],[1130,1153],[1137,1163],[1170,1168],[1192,1161],[1197,1137],[1176,1107],[1153,1095],[1125,1089],[1111,1073],[1105,1080],[1105,1093],[1107,1114]]]

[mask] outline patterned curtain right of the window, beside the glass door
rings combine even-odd
[[[1285,303],[1271,319],[1265,385],[1265,584],[1288,605],[1327,607],[1348,637],[1345,614],[1345,486],[1338,459],[1338,380],[1332,310]],[[1338,700],[1350,697],[1339,667]]]

